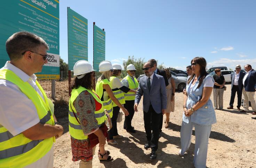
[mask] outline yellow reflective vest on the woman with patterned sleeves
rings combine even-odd
[[[73,138],[75,138],[77,140],[86,140],[86,139],[88,139],[88,136],[83,133],[82,127],[79,124],[79,123],[81,123],[81,121],[79,121],[79,123],[77,121],[77,119],[79,120],[79,118],[78,118],[78,115],[77,115],[77,111],[75,110],[75,108],[73,106],[73,102],[75,101],[77,96],[82,91],[85,91],[85,90],[88,91],[91,95],[93,95],[93,98],[97,102],[101,103],[101,105],[102,105],[100,110],[94,111],[95,118],[98,121],[98,127],[101,127],[102,123],[104,123],[105,119],[106,119],[103,104],[102,104],[101,100],[98,98],[98,96],[96,95],[96,93],[94,91],[86,89],[82,86],[79,86],[78,89],[73,89],[72,92],[71,92],[70,99],[69,99],[69,133]],[[75,116],[77,116],[77,119],[75,118],[73,111],[75,113]]]

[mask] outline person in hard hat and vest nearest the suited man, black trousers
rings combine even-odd
[[[139,83],[136,79],[135,66],[133,64],[129,64],[126,67],[127,76],[123,78],[122,84],[126,87],[129,87],[132,90],[137,90]],[[126,129],[127,132],[135,133],[134,127],[131,126],[131,120],[134,116],[134,100],[135,100],[136,92],[128,92],[125,93],[125,104],[123,105],[128,111],[129,116],[125,116],[125,122],[123,123],[123,128]]]

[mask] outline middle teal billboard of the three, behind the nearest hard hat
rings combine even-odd
[[[88,20],[67,7],[69,70],[75,62],[88,60]]]

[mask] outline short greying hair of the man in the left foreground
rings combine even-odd
[[[39,36],[29,32],[14,33],[6,41],[6,51],[10,60],[22,58],[25,51],[37,51],[40,45],[49,50],[47,43]]]

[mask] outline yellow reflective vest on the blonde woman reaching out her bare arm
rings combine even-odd
[[[100,99],[103,96],[103,84],[108,84],[109,87],[110,87],[110,82],[107,79],[103,79],[103,80],[97,82],[95,89],[96,89],[96,93],[97,93],[97,95],[99,96]],[[112,116],[113,116],[113,102],[112,102],[112,100],[109,98],[106,101],[102,101],[102,103],[103,103],[104,109],[107,110],[107,113],[112,118]]]

